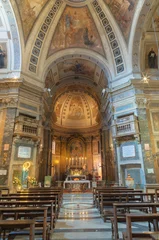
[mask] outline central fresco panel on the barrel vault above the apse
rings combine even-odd
[[[93,78],[95,64],[84,59],[66,60],[58,64],[58,70],[60,78],[71,75],[86,75]]]

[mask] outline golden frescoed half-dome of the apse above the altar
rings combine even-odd
[[[60,96],[55,103],[56,125],[65,128],[88,128],[98,125],[99,109],[96,101],[82,91]]]

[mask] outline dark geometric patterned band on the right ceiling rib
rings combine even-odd
[[[102,11],[102,8],[101,8],[99,2],[97,0],[95,0],[95,1],[93,1],[92,4],[93,4],[96,14],[98,15],[98,17],[101,21],[101,24],[103,25],[103,27],[106,31],[106,34],[107,34],[107,37],[108,37],[108,40],[109,40],[109,43],[110,43],[110,46],[111,46],[111,49],[113,52],[113,56],[114,56],[116,72],[117,72],[117,74],[122,73],[125,70],[124,63],[123,63],[123,57],[122,57],[122,53],[120,50],[118,40],[116,39],[115,33],[111,26],[111,23],[107,19],[105,13]]]

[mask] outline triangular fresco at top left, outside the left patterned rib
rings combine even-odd
[[[48,0],[16,0],[16,2],[22,19],[24,38],[26,40],[36,18]]]

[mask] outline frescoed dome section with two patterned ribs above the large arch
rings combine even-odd
[[[66,49],[74,49],[75,53],[76,49],[81,49],[97,53],[98,58],[102,56],[111,79],[126,74],[129,62],[131,64],[127,61],[125,66],[126,45],[138,0],[15,2],[26,46],[23,72],[40,77],[41,66],[47,65],[55,53]],[[29,64],[26,59],[30,59]]]

